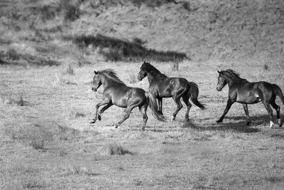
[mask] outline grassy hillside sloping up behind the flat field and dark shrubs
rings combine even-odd
[[[192,60],[274,59],[283,57],[283,7],[281,0],[1,1],[0,51],[9,44],[46,57],[45,51],[56,49],[53,59],[60,59],[65,47],[80,51],[62,36],[102,34],[139,39],[145,48],[185,53]],[[70,56],[88,62],[101,54],[96,47],[88,51]]]

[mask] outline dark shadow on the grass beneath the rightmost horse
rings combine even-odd
[[[244,116],[234,116],[234,117],[225,117],[222,123],[214,123],[205,125],[204,127],[193,123],[191,121],[185,122],[182,127],[184,128],[192,128],[196,130],[203,131],[234,131],[234,132],[261,132],[260,128],[256,128],[258,125],[267,125],[269,126],[269,117],[268,115],[256,115],[251,118],[251,125],[246,125],[246,117]],[[212,118],[210,118],[211,120]],[[234,120],[238,122],[226,122],[229,120]],[[276,122],[276,120],[275,120]]]

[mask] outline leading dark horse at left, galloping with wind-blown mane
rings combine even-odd
[[[158,120],[165,120],[163,115],[158,113],[158,104],[150,93],[145,92],[141,88],[131,88],[126,86],[126,84],[117,77],[113,70],[108,69],[94,71],[92,90],[97,92],[97,89],[101,85],[104,87],[103,98],[101,102],[96,105],[96,116],[90,123],[96,122],[97,119],[101,120],[101,114],[111,107],[111,105],[126,108],[124,118],[114,125],[116,128],[129,118],[131,111],[135,107],[138,107],[143,115],[142,130],[145,130],[146,122],[148,120],[146,114],[148,105],[150,105],[153,110],[153,114]],[[105,106],[99,110],[99,107],[102,105]]]

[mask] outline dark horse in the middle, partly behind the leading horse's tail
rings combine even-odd
[[[175,120],[176,115],[180,109],[182,109],[180,97],[182,97],[185,105],[187,105],[185,120],[188,120],[188,114],[190,112],[190,107],[192,106],[188,101],[189,99],[202,110],[205,109],[204,105],[197,100],[199,90],[196,83],[188,82],[185,78],[168,78],[166,75],[160,73],[153,65],[144,61],[137,78],[138,80],[142,80],[146,76],[149,80],[149,92],[153,97],[158,99],[158,111],[160,114],[163,115],[163,97],[173,97],[173,100],[175,100],[178,107],[175,112],[173,112],[172,121]]]

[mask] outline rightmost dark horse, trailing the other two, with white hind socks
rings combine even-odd
[[[229,99],[226,102],[226,108],[222,117],[217,120],[217,123],[222,122],[226,113],[229,111],[231,105],[234,102],[239,102],[244,106],[244,112],[246,113],[246,125],[251,124],[249,119],[249,110],[248,104],[254,104],[257,102],[263,102],[264,107],[268,111],[269,116],[271,117],[271,125],[273,127],[273,112],[271,106],[277,112],[277,119],[279,126],[282,125],[280,120],[280,106],[275,103],[276,95],[280,97],[284,105],[284,96],[278,85],[267,83],[264,81],[257,83],[249,83],[248,80],[239,77],[239,73],[236,73],[234,70],[227,69],[218,71],[218,84],[217,90],[221,91],[226,84],[229,86]],[[271,105],[271,106],[270,106]]]

